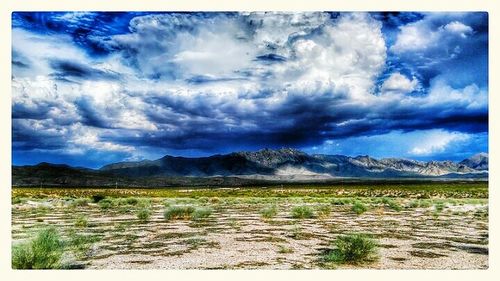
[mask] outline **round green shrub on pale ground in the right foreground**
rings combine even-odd
[[[362,263],[377,258],[377,244],[365,234],[338,236],[335,249],[325,255],[325,260],[336,263]]]

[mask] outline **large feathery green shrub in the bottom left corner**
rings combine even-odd
[[[62,254],[63,243],[55,228],[43,229],[31,241],[12,247],[12,268],[60,268]]]

